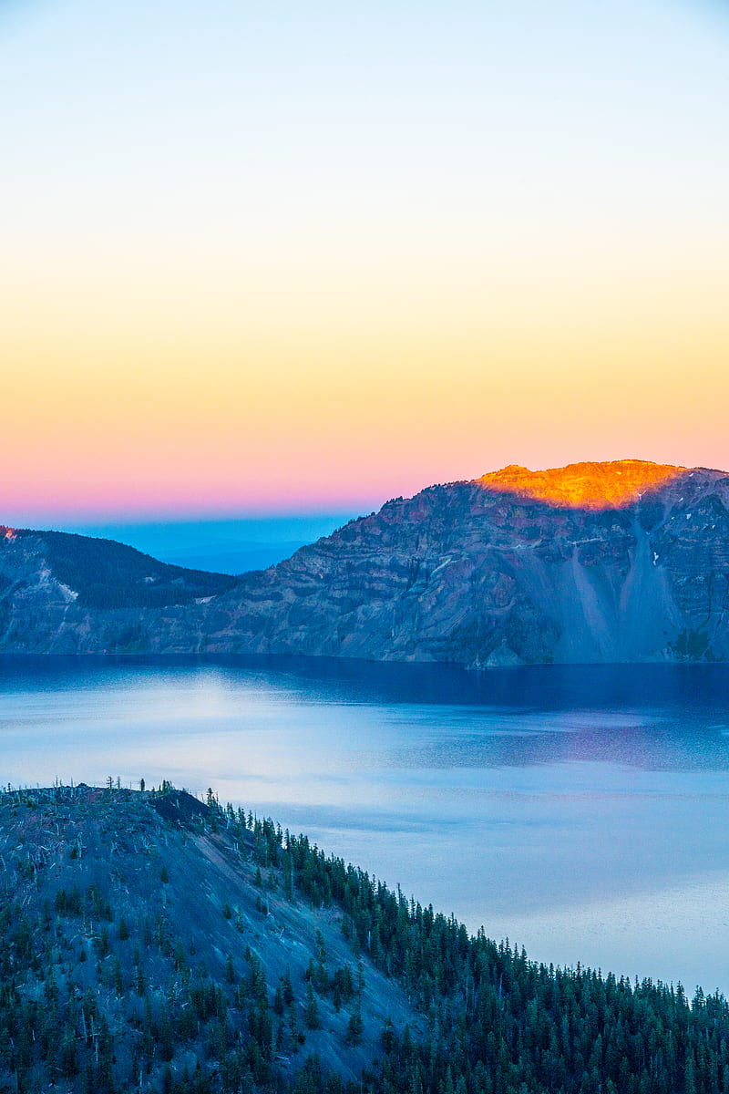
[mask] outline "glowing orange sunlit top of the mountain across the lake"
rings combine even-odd
[[[685,467],[644,459],[567,464],[544,472],[510,464],[477,479],[486,490],[505,490],[571,509],[622,509],[646,491],[657,490],[685,473]]]

